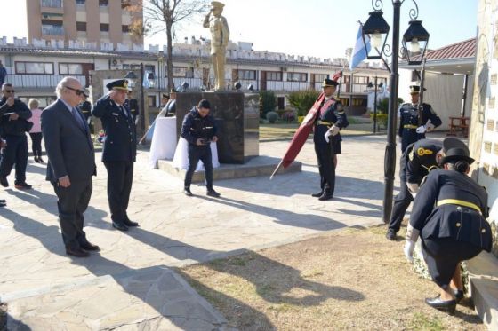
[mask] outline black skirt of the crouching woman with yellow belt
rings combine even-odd
[[[451,238],[429,238],[422,240],[422,254],[430,277],[440,288],[446,289],[453,278],[456,266],[478,256],[482,248]]]

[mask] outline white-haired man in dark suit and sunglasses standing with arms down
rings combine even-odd
[[[42,113],[48,154],[46,179],[59,199],[59,222],[66,253],[77,257],[100,250],[86,240],[83,231],[83,213],[92,195],[96,167],[90,130],[76,107],[81,102],[82,89],[76,78],[64,77],[56,88],[58,99]]]

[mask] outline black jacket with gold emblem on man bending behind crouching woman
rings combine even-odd
[[[410,144],[402,156],[405,158],[406,169],[401,169],[399,177],[407,183],[420,185],[430,170],[438,168],[436,154],[441,148],[443,144],[432,139],[422,139]]]

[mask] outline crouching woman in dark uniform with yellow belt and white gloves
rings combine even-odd
[[[423,258],[440,288],[438,296],[425,302],[450,314],[463,297],[460,263],[492,247],[486,190],[467,176],[472,162],[466,148],[446,151],[441,160],[445,169],[430,172],[415,198],[406,231],[406,258],[413,260],[420,236]]]

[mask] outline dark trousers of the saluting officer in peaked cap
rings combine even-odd
[[[126,209],[130,201],[133,183],[133,162],[104,162],[108,169],[108,202],[111,219],[122,223],[128,217]]]

